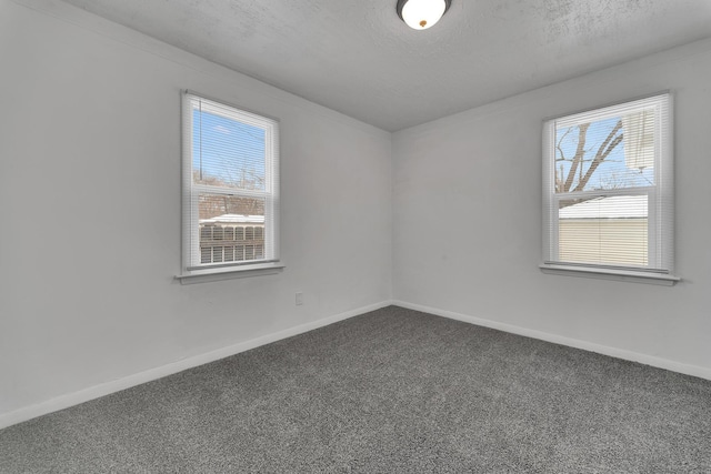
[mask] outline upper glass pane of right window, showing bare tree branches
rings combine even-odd
[[[654,109],[555,128],[555,192],[654,185]]]

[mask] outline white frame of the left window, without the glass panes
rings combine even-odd
[[[193,111],[219,114],[264,131],[264,190],[240,190],[193,182]],[[182,272],[181,283],[200,283],[243,276],[273,274],[283,270],[279,256],[279,121],[183,91],[182,94]],[[199,196],[201,193],[223,194],[264,200],[264,252],[260,260],[201,263]]]

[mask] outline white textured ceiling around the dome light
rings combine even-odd
[[[711,37],[711,0],[64,0],[395,131]]]

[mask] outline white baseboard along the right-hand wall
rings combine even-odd
[[[409,310],[435,314],[438,316],[448,317],[451,320],[463,321],[465,323],[471,323],[479,326],[491,327],[512,334],[523,335],[541,341],[548,341],[554,344],[568,345],[570,347],[582,349],[583,351],[595,352],[598,354],[609,355],[611,357],[639,362],[641,364],[651,365],[653,367],[665,369],[672,372],[679,372],[700,379],[711,380],[711,369],[702,367],[699,365],[684,364],[682,362],[670,361],[668,359],[657,357],[654,355],[641,354],[624,349],[610,347],[607,345],[597,344],[594,342],[581,341],[578,339],[567,337],[558,334],[550,334],[547,332],[521,327],[513,324],[501,323],[483,317],[468,316],[465,314],[454,313],[452,311],[439,310],[437,307],[423,306],[421,304],[407,303],[404,301],[392,301],[392,304],[407,307]]]

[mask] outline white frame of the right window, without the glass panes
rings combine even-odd
[[[654,129],[654,184],[614,190],[555,193],[555,130],[653,107],[661,120]],[[681,279],[673,272],[673,123],[672,97],[664,92],[648,98],[547,120],[543,123],[543,263],[544,273],[590,276],[672,285]],[[613,195],[648,196],[648,265],[614,266],[581,264],[559,259],[559,201]]]

